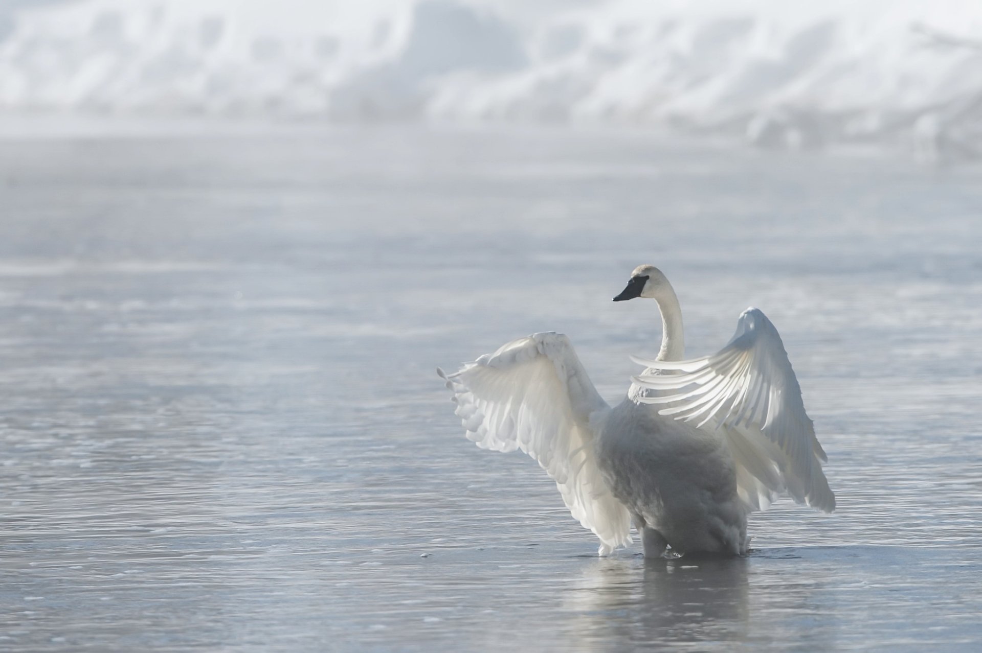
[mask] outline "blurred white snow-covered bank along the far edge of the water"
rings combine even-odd
[[[0,112],[982,153],[977,0],[0,0]]]

